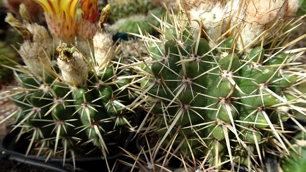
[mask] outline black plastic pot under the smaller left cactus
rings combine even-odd
[[[137,126],[139,124],[141,115],[141,110],[139,110],[136,114],[136,117],[133,121],[133,126]],[[68,158],[65,160],[65,166],[63,167],[63,158],[55,158],[50,157],[47,162],[45,162],[46,157],[42,156],[34,156],[28,155],[25,156],[24,152],[27,150],[30,141],[26,138],[28,135],[22,134],[19,140],[16,142],[17,135],[19,134],[20,128],[17,128],[13,131],[8,132],[5,137],[0,142],[0,150],[3,153],[10,155],[10,159],[15,161],[33,165],[37,168],[41,169],[50,169],[59,172],[68,172],[73,171],[73,160],[72,158]],[[123,154],[123,150],[119,147],[129,150],[129,145],[131,143],[131,139],[135,133],[129,133],[124,140],[121,140],[117,143],[116,146],[112,147],[112,155],[107,157],[107,162],[112,168],[119,156]],[[132,145],[133,146],[133,145]],[[90,157],[82,157],[75,158],[76,170],[80,172],[90,172],[96,171],[96,169],[105,169],[107,170],[107,164],[105,157],[99,155],[90,156]],[[120,170],[119,170],[120,171]]]

